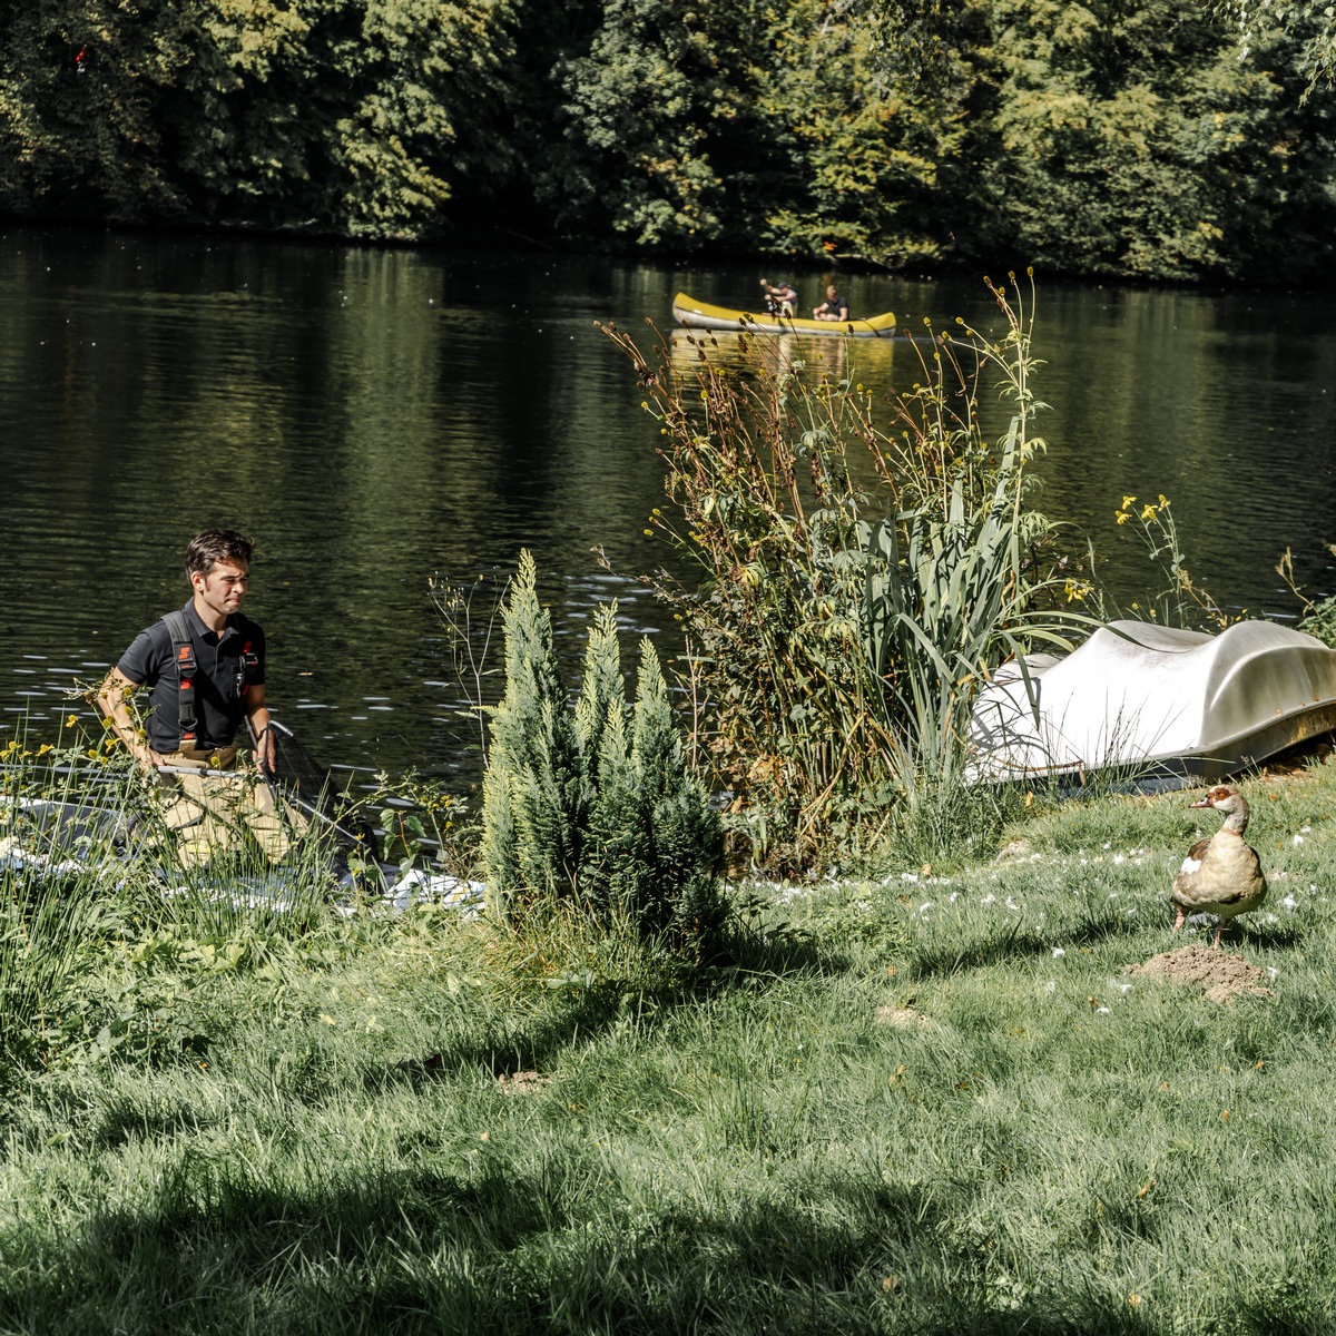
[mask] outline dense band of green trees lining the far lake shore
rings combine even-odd
[[[1316,3],[9,0],[0,36],[20,216],[1180,279],[1336,235]]]

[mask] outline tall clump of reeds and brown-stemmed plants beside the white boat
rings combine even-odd
[[[673,508],[651,525],[699,572],[645,578],[685,631],[697,739],[758,863],[958,844],[987,808],[966,790],[979,685],[1082,621],[1029,472],[1033,302],[1014,275],[990,289],[1001,337],[926,325],[906,342],[921,378],[882,399],[760,333],[723,365],[711,334],[652,361],[605,330],[661,424]],[[990,382],[1010,409],[995,442]]]

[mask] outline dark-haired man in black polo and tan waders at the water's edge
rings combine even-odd
[[[253,544],[234,529],[207,529],[186,549],[191,599],[142,631],[98,692],[116,736],[146,774],[231,770],[242,720],[266,745],[265,632],[240,611]],[[146,727],[128,697],[148,689]],[[147,736],[146,736],[147,732]],[[204,775],[172,775],[168,824],[190,831],[191,862],[226,844],[238,820],[281,856],[287,840],[266,786]],[[244,815],[242,812],[244,811]],[[259,818],[258,824],[257,819]]]

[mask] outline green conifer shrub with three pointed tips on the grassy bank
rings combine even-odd
[[[502,611],[506,687],[482,787],[485,875],[512,923],[565,902],[701,959],[724,919],[724,836],[692,774],[659,656],[641,641],[627,700],[616,609],[600,608],[572,705],[524,552]]]

